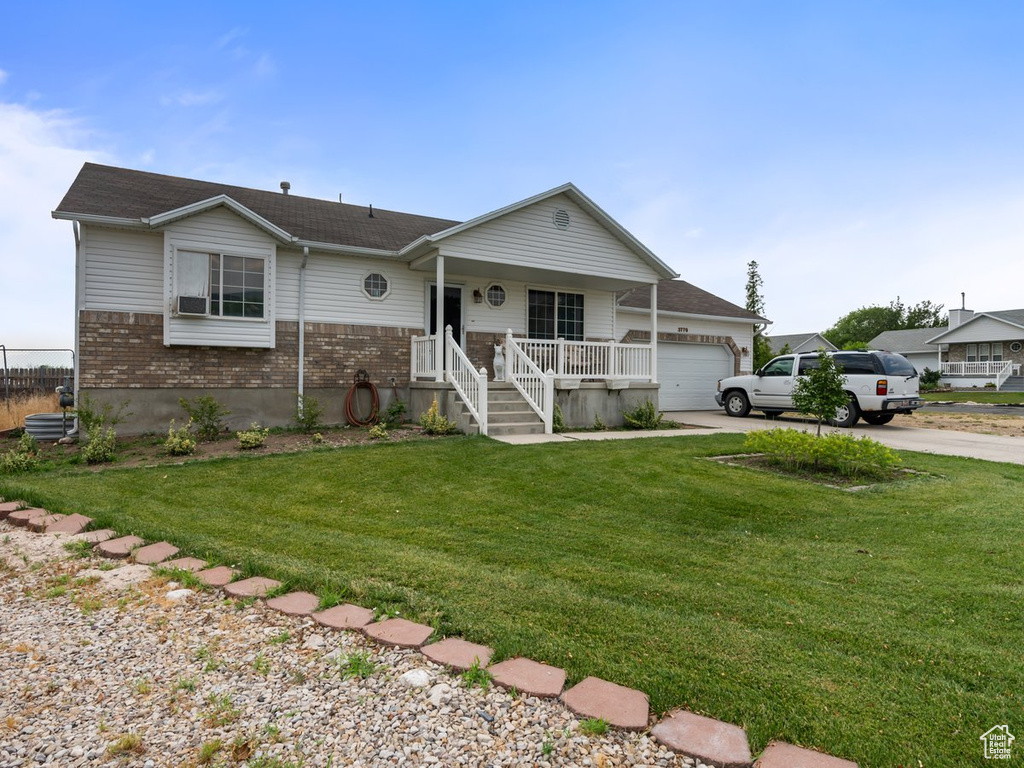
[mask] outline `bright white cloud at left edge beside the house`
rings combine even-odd
[[[71,347],[75,248],[57,207],[86,161],[102,161],[60,112],[0,102],[0,344]]]

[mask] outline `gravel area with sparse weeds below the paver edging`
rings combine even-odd
[[[2,768],[702,765],[71,540],[0,522]]]

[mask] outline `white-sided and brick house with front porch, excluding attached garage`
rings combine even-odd
[[[497,388],[547,430],[556,380],[570,423],[657,401],[657,336],[621,343],[615,297],[647,295],[629,330],[649,336],[676,274],[572,184],[460,223],[87,163],[53,216],[74,222],[77,391],[130,400],[126,431],[198,394],[231,426],[287,424],[298,394],[341,422],[360,369],[382,407],[437,397],[490,433]]]

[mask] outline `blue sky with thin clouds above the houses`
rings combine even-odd
[[[71,346],[81,164],[467,219],[565,181],[779,334],[1024,306],[1024,5],[4,3],[0,344]]]

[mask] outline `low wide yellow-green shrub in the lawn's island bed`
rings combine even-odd
[[[902,464],[889,446],[845,432],[817,436],[795,429],[756,430],[748,433],[744,449],[762,454],[770,464],[847,478],[884,479]]]

